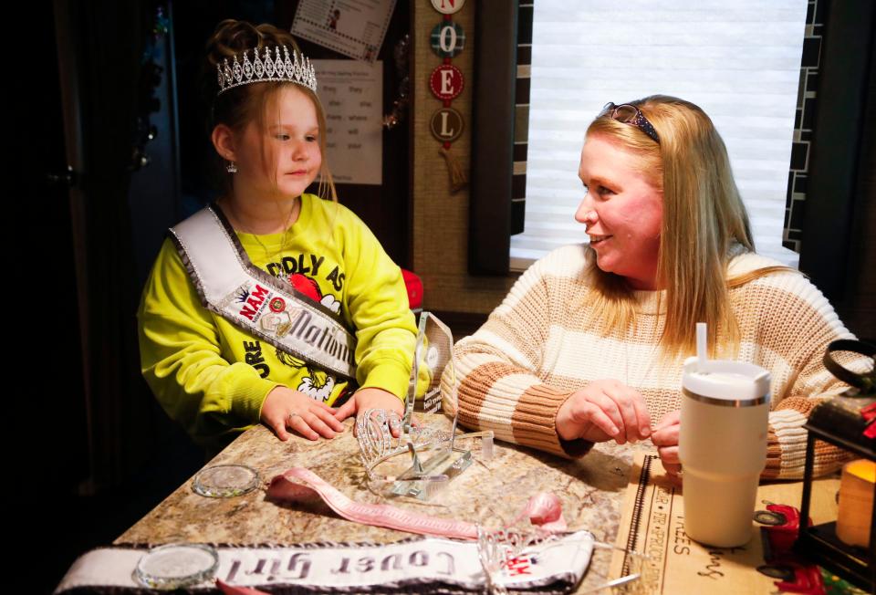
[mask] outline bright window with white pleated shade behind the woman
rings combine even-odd
[[[587,240],[573,215],[579,154],[608,101],[660,93],[693,101],[730,153],[757,251],[782,246],[807,0],[537,0],[533,24],[526,227],[511,266]]]

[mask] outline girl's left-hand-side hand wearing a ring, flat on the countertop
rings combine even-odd
[[[289,439],[287,428],[309,440],[317,440],[319,436],[334,438],[344,431],[344,424],[335,419],[334,413],[326,403],[314,401],[303,392],[277,386],[267,393],[261,420],[283,442]]]

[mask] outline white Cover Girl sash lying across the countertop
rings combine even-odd
[[[483,592],[484,569],[477,544],[442,538],[405,539],[391,544],[303,544],[294,547],[216,548],[216,579],[235,587],[289,586],[295,592]],[[510,560],[494,578],[510,590],[566,592],[589,565],[593,536],[569,533]],[[145,549],[101,548],[74,562],[55,593],[83,589],[134,592],[133,578]],[[214,582],[188,587],[215,590]],[[273,590],[272,590],[273,591]],[[214,591],[217,592],[217,591]]]

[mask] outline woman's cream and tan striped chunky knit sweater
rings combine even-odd
[[[590,444],[561,443],[555,421],[559,406],[589,381],[615,379],[639,391],[652,425],[679,409],[682,363],[693,354],[659,357],[664,295],[636,292],[635,329],[606,333],[599,323],[587,322],[590,258],[587,245],[564,246],[542,258],[517,280],[485,325],[456,344],[460,423],[494,430],[507,442],[577,456]],[[728,277],[777,264],[743,253],[731,260]],[[830,341],[853,336],[821,292],[796,272],[758,277],[731,289],[730,300],[741,336],[737,359],[772,375],[763,476],[800,477],[808,412],[818,395],[848,388],[821,358]],[[836,467],[840,456],[819,443],[816,473]]]

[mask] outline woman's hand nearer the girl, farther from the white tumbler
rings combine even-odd
[[[619,381],[592,381],[560,406],[557,433],[563,440],[634,443],[651,435],[651,418],[637,391]]]

